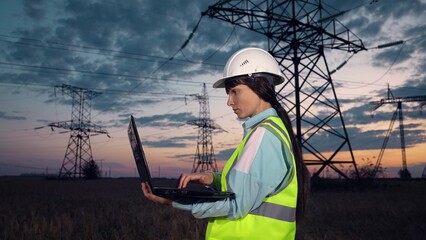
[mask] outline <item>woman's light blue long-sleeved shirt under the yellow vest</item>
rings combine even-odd
[[[269,108],[249,118],[243,123],[244,136],[269,116],[277,116],[275,109]],[[235,193],[234,199],[193,204],[173,202],[173,207],[191,211],[196,218],[242,218],[289,181],[290,154],[290,149],[282,146],[273,133],[258,127],[246,142],[240,159],[228,172],[228,189]],[[212,187],[220,189],[220,180],[217,181],[220,173],[214,175]]]

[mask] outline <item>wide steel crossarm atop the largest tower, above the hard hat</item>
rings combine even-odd
[[[274,42],[339,49],[357,53],[367,50],[355,34],[331,16],[317,1],[263,0],[219,1],[202,13],[249,29]],[[320,21],[322,19],[322,21]],[[294,35],[301,41],[292,41]]]

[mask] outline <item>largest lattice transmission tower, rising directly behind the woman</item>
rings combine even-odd
[[[361,39],[327,12],[321,1],[219,1],[202,13],[264,35],[268,50],[286,77],[277,97],[293,122],[305,162],[313,176],[331,168],[358,176],[352,147],[336,96],[325,49],[352,54],[366,50]],[[340,65],[338,68],[342,67]]]

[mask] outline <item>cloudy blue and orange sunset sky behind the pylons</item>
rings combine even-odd
[[[316,2],[316,1],[313,1]],[[202,16],[216,1],[4,0],[0,3],[0,175],[56,174],[70,139],[48,124],[71,119],[71,96],[61,85],[99,92],[91,121],[108,135],[90,138],[104,176],[134,177],[127,138],[134,115],[154,176],[176,177],[192,169],[198,118],[206,84],[219,167],[242,137],[242,121],[212,84],[240,48],[267,49],[261,34]],[[327,50],[336,96],[359,166],[375,163],[395,104],[372,111],[371,101],[426,95],[425,0],[324,0],[332,15],[368,50],[354,55]],[[197,25],[198,23],[198,25]],[[197,28],[195,29],[195,27]],[[195,31],[194,31],[195,29]],[[402,44],[378,48],[384,44]],[[191,96],[192,95],[192,96]],[[425,107],[403,103],[408,170],[426,165]],[[402,158],[396,121],[382,159],[396,176]],[[326,146],[324,151],[327,151]],[[324,173],[326,174],[326,173]]]

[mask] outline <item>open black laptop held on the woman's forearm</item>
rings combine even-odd
[[[136,167],[139,172],[140,181],[147,183],[155,195],[185,202],[215,201],[234,197],[234,193],[232,192],[222,192],[204,186],[201,189],[200,186],[196,188],[194,185],[189,185],[187,188],[154,186],[133,116],[130,116],[127,134],[129,136]],[[177,186],[177,183],[175,186]]]

